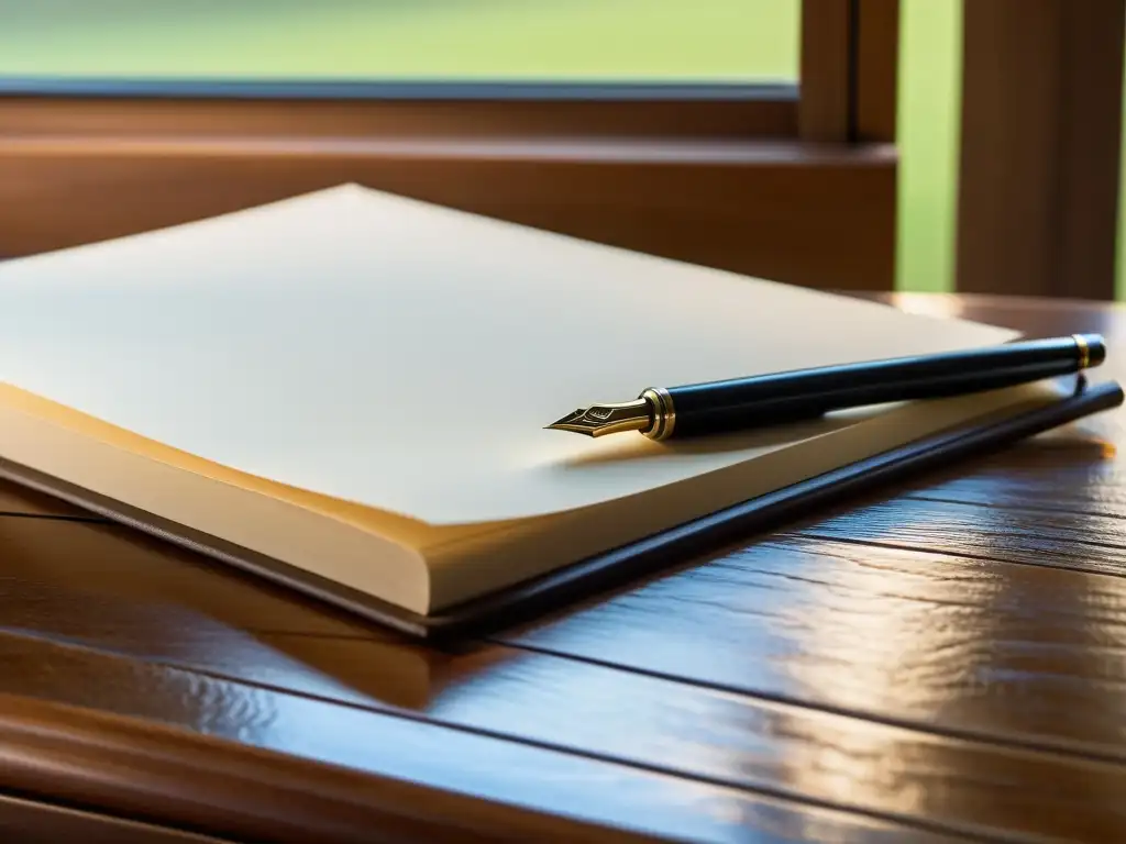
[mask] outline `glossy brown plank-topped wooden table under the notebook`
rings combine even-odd
[[[459,654],[5,487],[0,838],[1126,839],[1124,419]]]

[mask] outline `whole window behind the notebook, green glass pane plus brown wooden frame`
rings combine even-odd
[[[892,285],[895,0],[0,7],[0,254],[359,181],[795,284]]]

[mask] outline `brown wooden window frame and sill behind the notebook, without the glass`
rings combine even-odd
[[[803,0],[793,86],[0,80],[0,255],[355,181],[841,289],[894,284],[899,0]]]

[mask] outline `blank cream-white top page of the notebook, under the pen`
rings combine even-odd
[[[778,445],[543,430],[593,401],[1011,336],[356,186],[0,263],[0,380],[431,523],[579,508]]]

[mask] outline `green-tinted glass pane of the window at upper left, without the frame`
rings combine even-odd
[[[0,75],[795,82],[799,0],[0,0]]]

